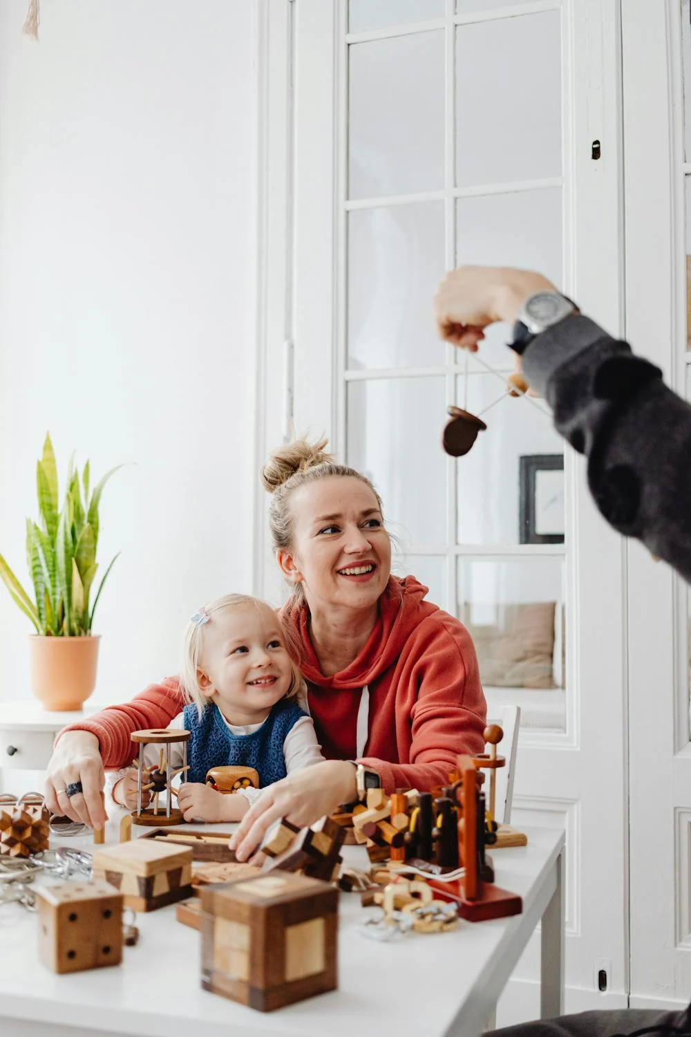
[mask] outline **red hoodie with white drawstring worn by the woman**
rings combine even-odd
[[[319,669],[307,607],[286,606],[281,613],[303,646],[299,666],[327,759],[354,759],[357,710],[368,686],[369,736],[362,761],[379,773],[386,791],[444,784],[459,753],[484,750],[487,705],[470,635],[448,612],[424,601],[426,594],[413,577],[392,577],[367,644],[350,666],[330,677]],[[134,758],[131,732],[166,727],[182,705],[171,677],[65,730],[91,731],[105,766],[123,766]]]

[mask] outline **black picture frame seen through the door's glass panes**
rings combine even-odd
[[[564,454],[524,454],[518,472],[518,542],[564,543]]]

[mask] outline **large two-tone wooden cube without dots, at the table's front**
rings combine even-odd
[[[338,892],[271,872],[202,890],[202,986],[270,1012],[337,987]]]

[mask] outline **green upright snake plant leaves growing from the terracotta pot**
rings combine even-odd
[[[98,506],[104,486],[118,465],[107,472],[89,496],[89,463],[81,476],[69,461],[67,489],[58,508],[58,471],[49,435],[36,465],[39,522],[26,521],[26,555],[33,582],[33,601],[0,555],[0,578],[37,634],[83,637],[91,633],[93,614],[113,562],[106,569],[93,605],[89,605],[98,569]],[[82,489],[84,496],[82,497]],[[119,554],[119,552],[118,552]]]

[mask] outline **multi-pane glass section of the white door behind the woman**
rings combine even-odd
[[[395,571],[468,627],[490,708],[564,731],[563,444],[544,403],[506,394],[511,329],[471,357],[438,340],[431,304],[461,263],[564,283],[563,12],[513,6],[350,0],[342,428]],[[439,445],[450,403],[487,415],[459,460]]]

